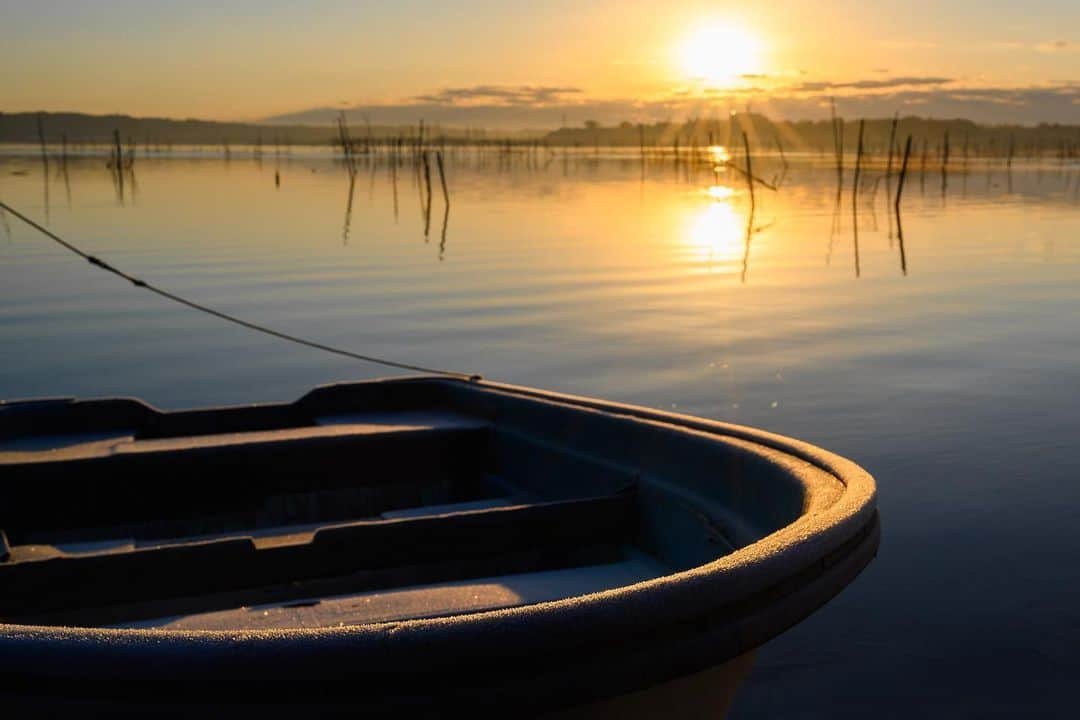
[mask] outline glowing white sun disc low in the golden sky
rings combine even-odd
[[[731,84],[759,71],[760,52],[752,32],[729,23],[699,27],[680,45],[683,69],[710,85]]]

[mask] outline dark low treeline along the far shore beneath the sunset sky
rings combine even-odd
[[[846,150],[853,151],[858,119],[839,121]],[[604,126],[588,122],[580,127],[562,127],[527,136],[472,128],[443,128],[416,125],[372,126],[354,121],[349,134],[354,142],[379,145],[411,141],[423,137],[426,144],[528,144],[549,147],[636,147],[645,152],[702,148],[710,145],[735,145],[746,133],[757,150],[835,151],[834,123],[823,121],[772,121],[758,113],[738,113],[717,119],[692,119],[681,123],[635,124],[624,122]],[[119,134],[127,147],[166,148],[172,145],[261,146],[293,145],[340,146],[340,131],[334,125],[260,125],[207,120],[170,120],[130,116],[90,116],[82,113],[0,113],[0,142],[40,142],[49,145],[110,144]],[[889,140],[899,146],[913,136],[915,151],[942,152],[951,157],[1061,154],[1080,157],[1080,125],[1041,124],[982,125],[968,120],[933,120],[904,117],[867,119],[864,144],[868,152],[887,152]]]

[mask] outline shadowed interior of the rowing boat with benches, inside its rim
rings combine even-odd
[[[440,379],[170,412],[125,398],[3,404],[0,622],[337,627],[634,585],[841,491],[775,454]]]

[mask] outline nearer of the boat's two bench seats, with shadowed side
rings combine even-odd
[[[569,501],[360,520],[68,555],[12,547],[0,621],[107,624],[311,595],[608,562],[636,532],[633,488]],[[77,598],[77,606],[72,607]]]

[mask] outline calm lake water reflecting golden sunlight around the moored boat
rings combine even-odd
[[[738,175],[603,151],[456,153],[448,215],[433,167],[430,220],[410,167],[395,182],[362,165],[350,201],[318,151],[139,157],[122,199],[102,158],[54,161],[45,180],[38,158],[5,152],[0,199],[201,302],[864,465],[879,557],[760,650],[732,717],[1076,711],[1080,165],[954,162],[943,187],[913,163],[902,245],[885,180],[859,201],[856,242],[850,168],[837,212],[815,158],[757,189],[747,235]],[[388,375],[168,304],[6,226],[0,397],[176,408]]]

